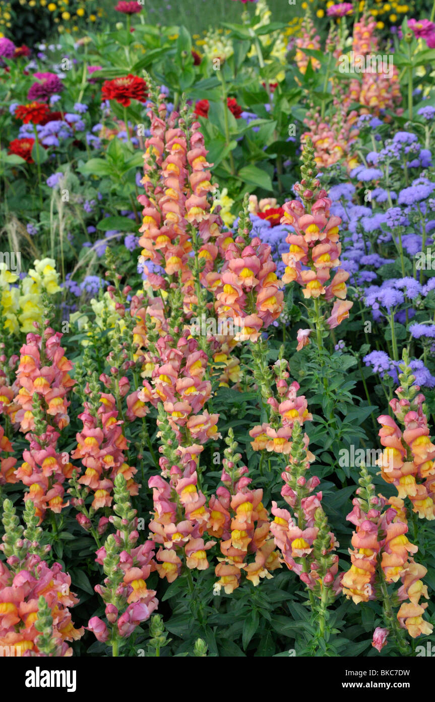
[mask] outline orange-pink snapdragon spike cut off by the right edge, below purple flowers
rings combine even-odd
[[[403,428],[389,415],[380,415],[380,443],[385,446],[378,465],[382,478],[394,484],[401,499],[408,498],[420,519],[435,519],[435,445],[431,442],[424,395],[408,366],[405,354],[399,366],[399,399],[389,405]]]

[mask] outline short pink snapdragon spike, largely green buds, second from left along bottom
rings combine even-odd
[[[115,656],[120,644],[157,609],[158,600],[156,591],[146,586],[146,580],[156,569],[155,545],[153,541],[136,545],[139,539],[137,512],[132,509],[123,475],[117,475],[114,481],[113,512],[116,515],[109,517],[109,521],[116,528],[116,534],[106,538],[95,559],[106,575],[104,585],[95,585],[95,591],[106,604],[106,621],[93,616],[87,628],[98,641],[108,642]]]

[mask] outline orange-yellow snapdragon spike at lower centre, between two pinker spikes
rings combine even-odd
[[[239,587],[243,573],[256,586],[262,578],[272,578],[271,571],[281,567],[270,538],[269,516],[262,503],[263,490],[250,489],[247,466],[237,465],[242,454],[235,453],[237,442],[232,429],[228,430],[225,442],[223,485],[209,500],[211,511],[207,527],[210,536],[221,539],[223,556],[218,558],[215,568],[219,580],[214,584],[214,595],[219,595],[222,588],[230,595]]]

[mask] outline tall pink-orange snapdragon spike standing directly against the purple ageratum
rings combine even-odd
[[[349,274],[340,268],[341,244],[338,240],[340,217],[331,216],[331,199],[326,190],[319,189],[314,150],[310,139],[305,141],[302,155],[301,183],[295,190],[302,202],[291,200],[282,206],[281,223],[290,225],[286,241],[289,253],[282,254],[286,269],[282,281],[297,282],[303,288],[305,299],[334,300],[331,314],[326,319],[329,329],[334,329],[349,317],[353,303],[346,300],[346,281]],[[333,270],[336,273],[331,278]]]

